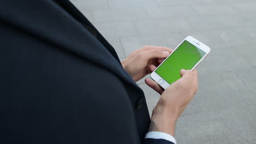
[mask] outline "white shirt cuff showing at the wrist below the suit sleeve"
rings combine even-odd
[[[164,139],[167,141],[171,141],[174,144],[176,144],[176,140],[174,139],[173,136],[166,134],[166,133],[162,133],[159,131],[151,131],[149,133],[146,134],[145,139]]]

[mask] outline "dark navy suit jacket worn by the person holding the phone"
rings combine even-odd
[[[69,1],[0,1],[0,39],[0,143],[171,143],[144,140],[142,89]]]

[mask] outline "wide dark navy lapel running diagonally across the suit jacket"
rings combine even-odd
[[[21,31],[56,45],[61,50],[100,65],[120,77],[120,79],[130,83],[134,88],[142,91],[129,74],[124,71],[120,61],[114,58],[109,50],[81,23],[53,1],[0,2],[0,19],[21,29]],[[85,21],[87,20],[85,19]],[[90,22],[89,26],[93,27]],[[102,38],[99,35],[99,39],[103,40]],[[105,45],[109,45],[106,40]]]

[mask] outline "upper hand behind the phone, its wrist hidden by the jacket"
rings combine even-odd
[[[122,63],[133,80],[141,80],[170,55],[171,49],[161,46],[144,46],[131,53]]]

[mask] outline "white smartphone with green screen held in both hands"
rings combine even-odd
[[[210,51],[210,47],[189,36],[172,51],[150,76],[162,88],[166,89],[181,78],[181,69],[194,70]]]

